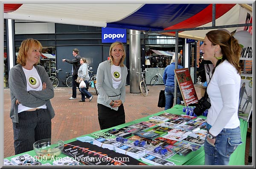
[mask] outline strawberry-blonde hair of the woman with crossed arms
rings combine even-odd
[[[42,49],[42,45],[38,40],[35,40],[32,38],[23,40],[23,42],[20,45],[19,52],[18,52],[17,63],[20,63],[21,66],[25,66],[28,54],[30,54],[32,52],[32,48]],[[38,61],[38,63],[39,62],[40,62],[40,60]],[[35,63],[34,65],[37,65],[38,63]]]

